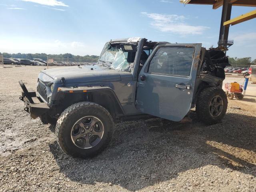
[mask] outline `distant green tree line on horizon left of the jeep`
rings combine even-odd
[[[80,55],[73,55],[70,53],[65,53],[65,54],[46,54],[46,53],[36,53],[36,54],[31,54],[31,53],[1,53],[0,55],[3,55],[4,58],[20,58],[20,59],[29,59],[33,60],[34,58],[40,58],[44,61],[47,60],[48,58],[70,58],[70,59],[92,59],[92,60],[98,60],[99,56],[97,55],[85,55],[85,56],[80,56]]]

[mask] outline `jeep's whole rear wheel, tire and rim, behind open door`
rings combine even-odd
[[[197,99],[196,114],[206,124],[220,122],[226,114],[228,100],[221,88],[209,87],[203,89]]]

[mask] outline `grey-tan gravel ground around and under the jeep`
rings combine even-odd
[[[32,120],[18,80],[36,88],[44,67],[0,69],[2,191],[256,191],[256,108],[229,101],[222,122],[205,126],[191,110],[182,122],[115,124],[114,139],[87,160],[64,154],[54,127]]]

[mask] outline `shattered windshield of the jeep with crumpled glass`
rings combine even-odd
[[[134,51],[132,46],[107,43],[98,64],[114,70],[130,71],[130,64],[134,62],[135,53],[136,50]]]

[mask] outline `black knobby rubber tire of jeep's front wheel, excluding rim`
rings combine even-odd
[[[95,116],[102,121],[104,126],[104,134],[100,142],[96,146],[88,149],[77,147],[72,142],[70,136],[72,127],[76,121],[84,116]],[[73,157],[87,158],[97,155],[106,148],[112,138],[113,130],[114,122],[108,110],[93,102],[78,102],[62,112],[57,120],[55,135],[63,152]]]

